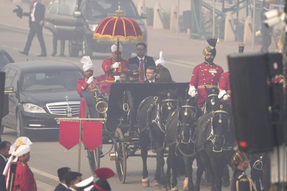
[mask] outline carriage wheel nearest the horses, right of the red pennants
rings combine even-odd
[[[123,137],[123,133],[120,130],[120,128],[117,128],[115,131],[115,136],[116,134],[120,135],[120,138]],[[123,184],[126,181],[126,147],[125,147],[125,142],[115,140],[114,143],[115,146],[115,153],[117,153],[117,158],[116,158],[116,169],[117,169],[117,177],[120,180],[120,183]]]

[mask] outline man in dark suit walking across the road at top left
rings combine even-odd
[[[43,25],[44,25],[44,14],[45,14],[45,6],[38,2],[38,0],[30,0],[33,6],[29,13],[23,13],[24,16],[29,16],[29,27],[30,31],[28,34],[28,39],[23,51],[19,51],[21,54],[25,54],[28,56],[29,50],[32,44],[32,40],[37,34],[40,46],[41,46],[41,54],[38,56],[47,56],[45,42],[43,39]]]

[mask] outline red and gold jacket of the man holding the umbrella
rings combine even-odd
[[[114,68],[113,70],[110,70],[110,66],[112,64],[115,64],[115,62],[116,61],[112,57],[109,57],[108,59],[105,59],[103,61],[102,68],[105,72],[106,82],[115,82],[116,69]],[[120,76],[121,72],[127,71],[127,68],[125,66],[126,64],[129,64],[128,62],[129,61],[123,58],[120,59],[120,67],[118,69],[118,76]]]

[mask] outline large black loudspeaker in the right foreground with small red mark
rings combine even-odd
[[[238,146],[248,153],[271,151],[274,131],[269,112],[268,54],[232,54],[228,64]]]

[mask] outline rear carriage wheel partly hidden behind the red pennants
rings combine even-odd
[[[90,110],[87,108],[86,110],[86,118],[99,118],[99,114],[96,113],[96,116],[91,117],[91,113]],[[93,174],[94,170],[100,168],[100,147],[96,148],[95,150],[90,150],[87,147],[87,154],[88,154],[88,161],[89,161],[89,165],[90,165],[90,169],[92,171]]]

